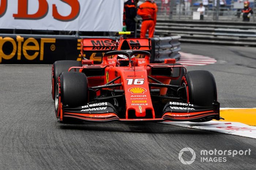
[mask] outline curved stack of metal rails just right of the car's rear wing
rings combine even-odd
[[[152,58],[151,63],[163,63],[167,58],[179,59],[180,54],[180,36],[151,38]]]

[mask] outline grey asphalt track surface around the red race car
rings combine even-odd
[[[214,74],[221,107],[256,107],[256,48],[182,44],[182,51],[218,60],[187,68]],[[51,66],[0,65],[0,169],[256,168],[251,138],[160,123],[58,123],[50,74]],[[184,147],[195,150],[191,165],[178,159]],[[201,162],[200,151],[214,149],[251,149],[251,155]]]

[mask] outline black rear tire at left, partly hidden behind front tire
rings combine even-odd
[[[82,62],[74,61],[74,60],[61,60],[56,61],[52,65],[52,98],[54,100],[54,94],[55,94],[55,86],[56,86],[56,80],[57,77],[65,71],[68,71],[70,67],[82,67]]]

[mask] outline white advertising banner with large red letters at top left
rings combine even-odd
[[[123,0],[0,0],[0,29],[121,31]]]

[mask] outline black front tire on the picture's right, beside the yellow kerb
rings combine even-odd
[[[212,106],[217,101],[217,88],[214,76],[206,70],[188,71],[182,78],[187,88],[187,102],[198,106]]]

